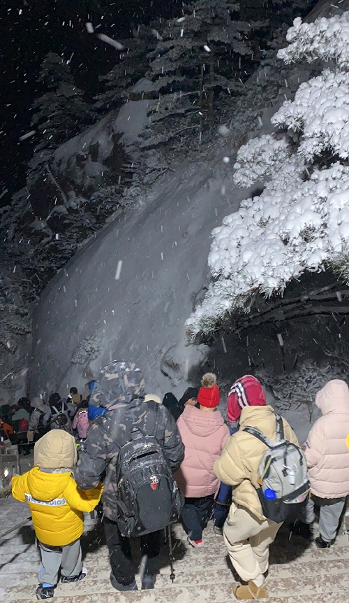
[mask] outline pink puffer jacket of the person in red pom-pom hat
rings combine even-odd
[[[186,406],[177,425],[185,455],[174,479],[186,497],[215,494],[219,480],[214,474],[214,461],[230,436],[221,413]]]

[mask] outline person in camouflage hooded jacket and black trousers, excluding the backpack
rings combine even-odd
[[[107,413],[94,420],[89,428],[84,450],[75,470],[80,488],[93,488],[104,478],[103,512],[105,538],[109,548],[110,582],[117,590],[137,590],[130,539],[121,536],[117,525],[117,458],[125,441],[132,440],[137,429],[144,436],[155,436],[161,444],[172,472],[184,457],[184,446],[174,418],[163,404],[149,400],[144,404],[144,379],[135,364],[113,361],[101,369],[90,404],[104,406]],[[156,424],[156,431],[151,424]],[[160,549],[160,532],[140,538],[142,556],[147,563],[142,588],[154,588],[156,558]]]

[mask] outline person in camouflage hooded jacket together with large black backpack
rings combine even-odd
[[[110,582],[117,590],[137,590],[130,539],[140,535],[147,558],[142,588],[154,588],[159,530],[177,520],[182,503],[172,479],[184,458],[177,425],[163,404],[144,404],[142,373],[132,363],[114,361],[102,369],[90,402],[107,413],[91,424],[74,475],[82,489],[105,475]]]

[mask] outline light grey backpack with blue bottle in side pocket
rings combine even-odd
[[[281,523],[292,513],[302,509],[309,497],[310,482],[303,451],[296,444],[285,440],[283,421],[279,415],[276,415],[276,442],[255,427],[245,427],[244,431],[268,447],[260,461],[260,488],[256,492],[263,515]]]

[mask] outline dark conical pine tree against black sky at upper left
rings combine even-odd
[[[95,115],[75,85],[70,65],[49,52],[38,76],[46,92],[34,101],[31,126],[41,135],[36,150],[57,148],[91,124]]]

